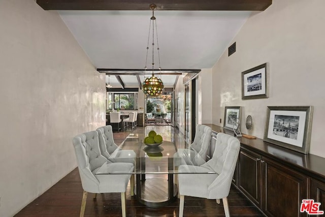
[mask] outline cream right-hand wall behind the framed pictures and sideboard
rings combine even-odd
[[[253,118],[253,129],[242,131],[263,138],[267,106],[313,106],[310,153],[325,157],[325,1],[274,0],[254,13],[213,67],[213,123],[223,119],[224,106],[243,106],[242,122]],[[241,100],[241,72],[269,63],[270,97]]]

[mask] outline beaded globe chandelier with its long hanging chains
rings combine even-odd
[[[165,90],[165,86],[163,81],[161,81],[161,78],[157,78],[153,74],[153,67],[154,67],[154,59],[153,59],[153,53],[154,53],[154,29],[156,29],[156,41],[157,41],[157,52],[158,52],[158,60],[159,60],[159,71],[161,71],[160,67],[160,56],[159,56],[159,44],[158,44],[158,33],[157,33],[157,23],[156,18],[154,17],[154,9],[156,9],[156,5],[150,5],[150,9],[152,10],[152,17],[150,18],[150,25],[149,25],[149,35],[148,35],[148,45],[147,45],[147,56],[146,56],[146,66],[145,66],[145,73],[147,70],[147,60],[148,60],[148,51],[149,51],[149,39],[150,39],[150,33],[151,33],[151,21],[152,21],[152,75],[150,78],[146,78],[142,83],[142,90],[145,95],[147,96],[159,96],[163,93]]]

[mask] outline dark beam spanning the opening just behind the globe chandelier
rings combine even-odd
[[[97,69],[100,73],[106,73],[107,75],[145,75],[151,74],[151,71],[144,71],[143,69]],[[183,73],[199,73],[200,69],[175,69],[175,70],[153,70],[154,74],[161,75],[182,75]]]

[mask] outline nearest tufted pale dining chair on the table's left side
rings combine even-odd
[[[73,144],[77,157],[78,169],[84,190],[80,216],[84,215],[88,192],[90,193],[121,193],[122,216],[125,213],[125,190],[134,170],[131,163],[111,163],[102,156],[99,147],[99,135],[97,131],[86,132],[75,136]],[[105,167],[105,171],[119,174],[96,174]],[[126,174],[120,174],[126,173]]]

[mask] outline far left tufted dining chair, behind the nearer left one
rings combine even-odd
[[[99,143],[102,155],[111,162],[135,163],[134,150],[121,150],[114,142],[112,126],[103,126],[96,130],[99,134]]]

